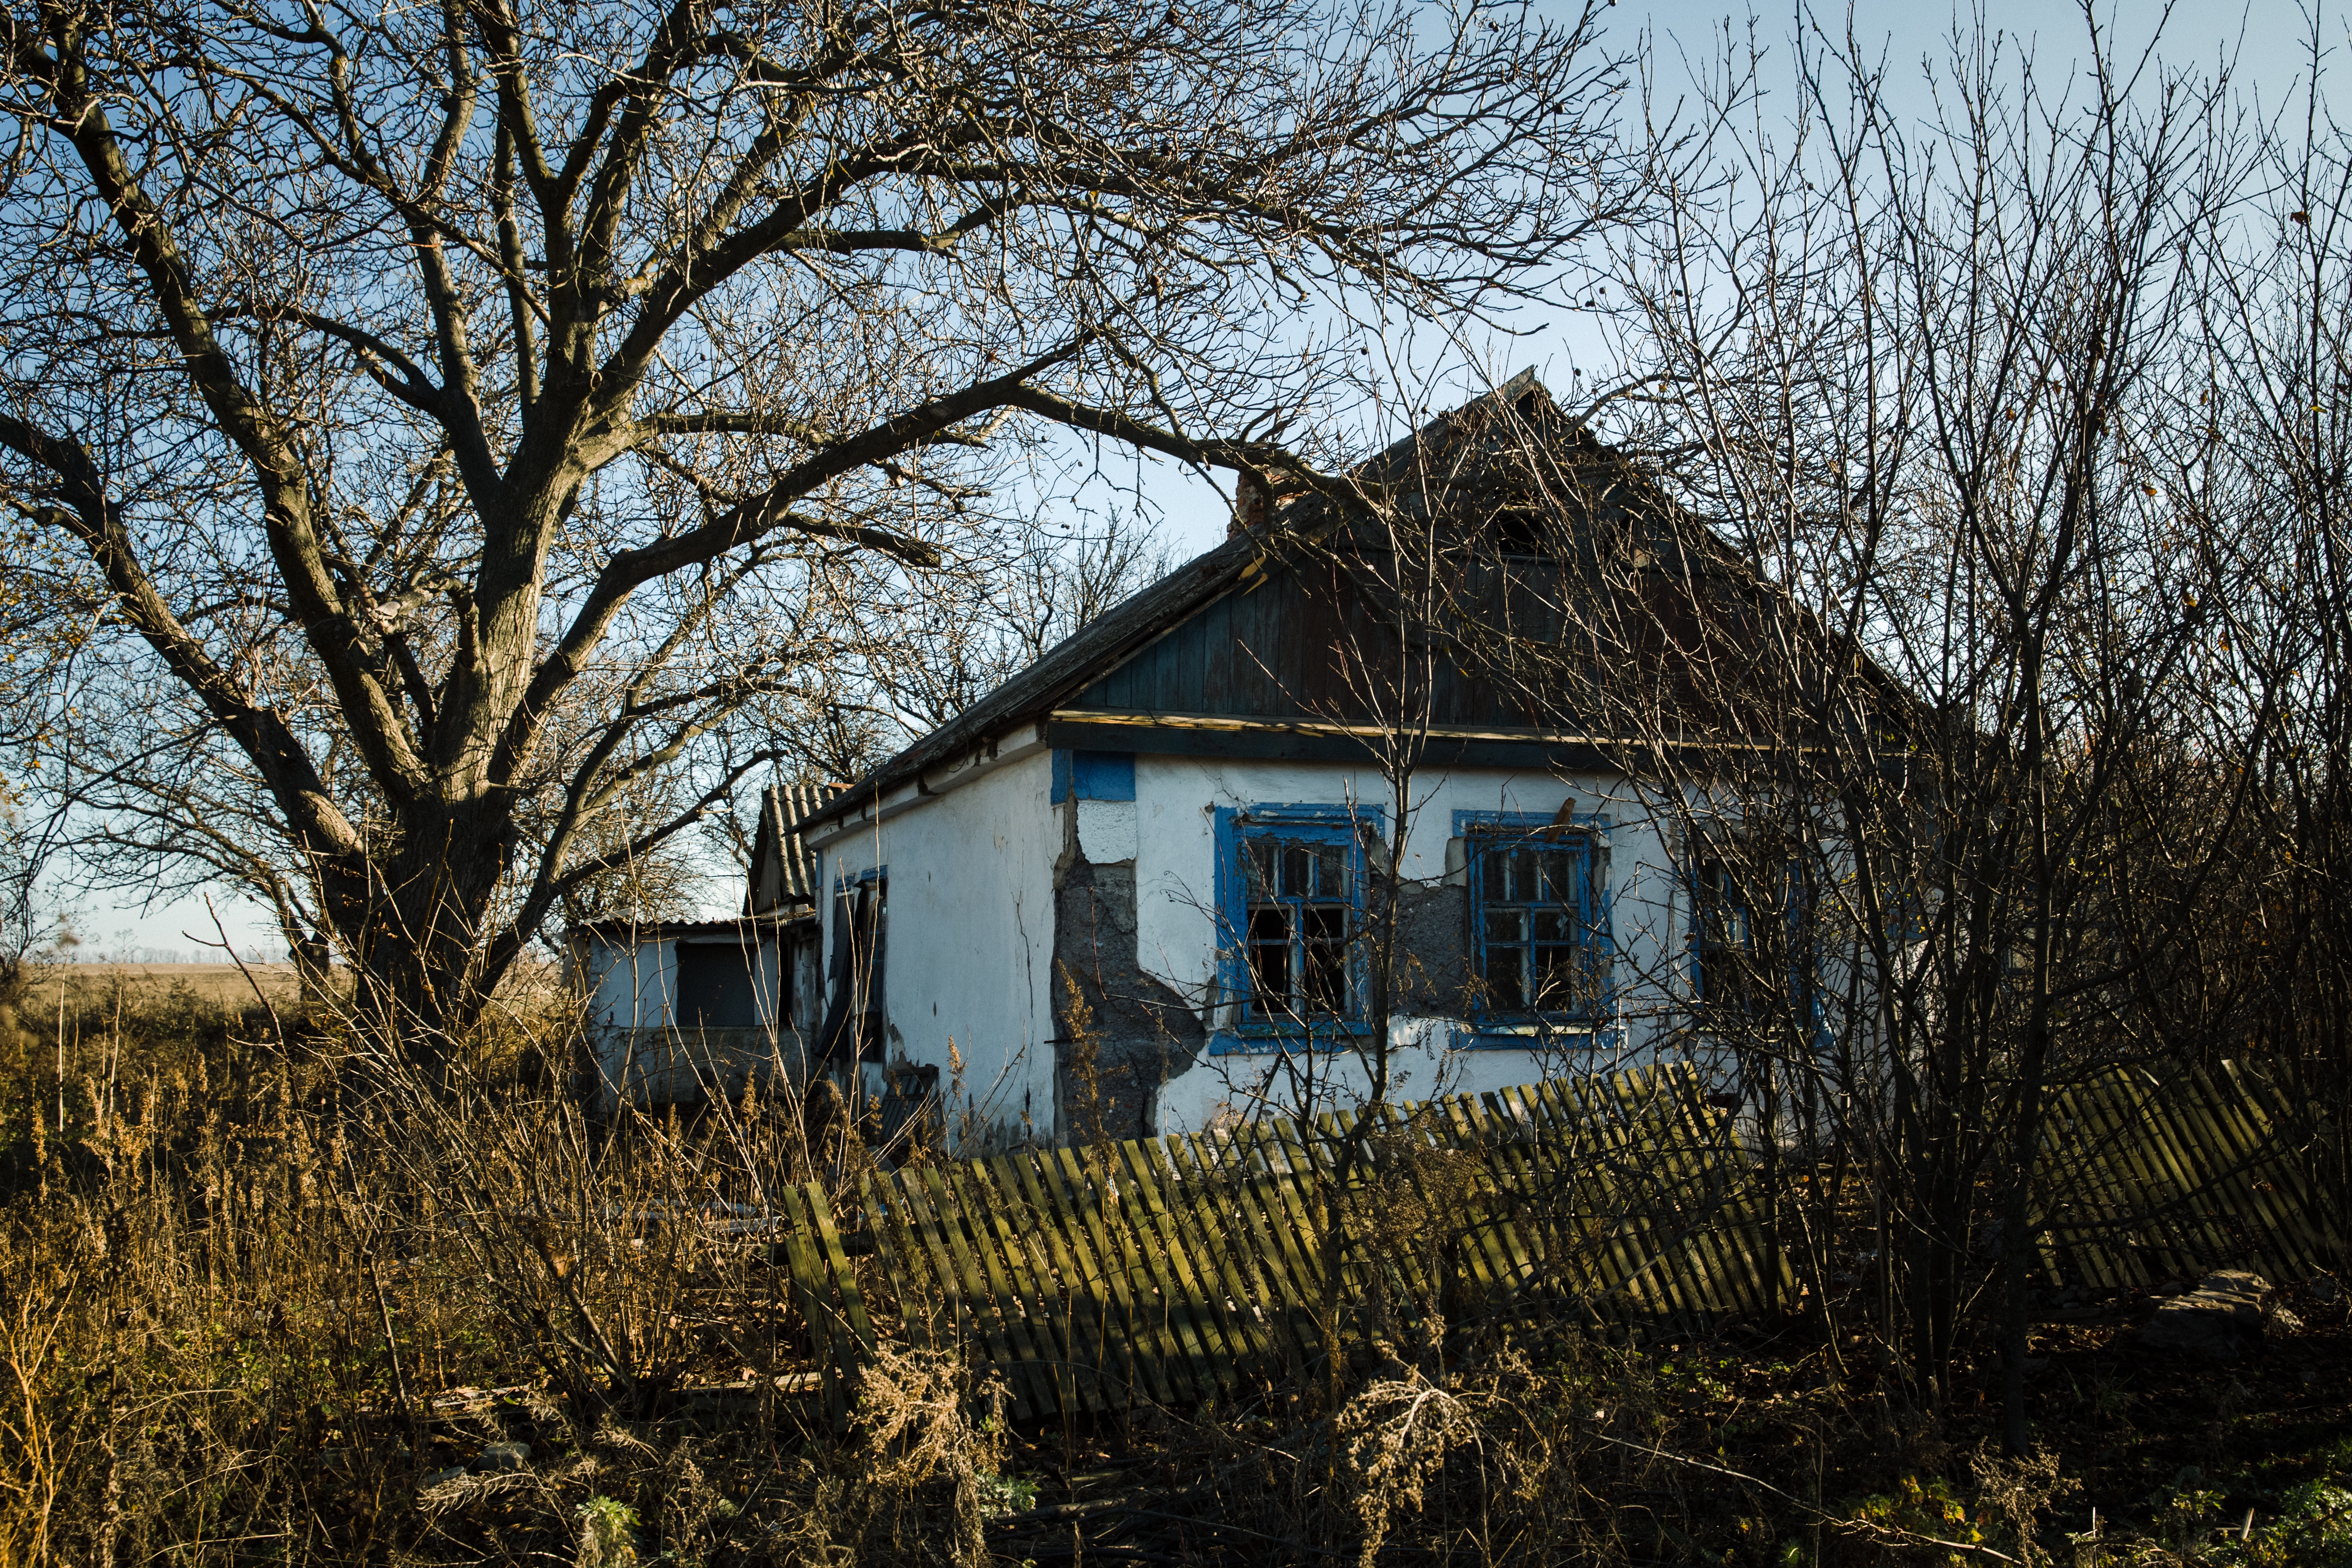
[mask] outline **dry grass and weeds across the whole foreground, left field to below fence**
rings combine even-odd
[[[962,1363],[884,1352],[830,1429],[760,1218],[866,1168],[837,1117],[597,1126],[553,992],[449,1095],[186,985],[68,997],[47,1039],[40,1001],[0,1093],[0,1568],[1940,1563],[2030,1556],[2067,1495],[1818,1347],[1475,1324],[1025,1432]],[[1428,1246],[1444,1215],[1381,1222]]]

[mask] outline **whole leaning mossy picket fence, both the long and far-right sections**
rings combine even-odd
[[[2037,1182],[2049,1284],[2338,1267],[2281,1110],[2239,1067],[2110,1070],[2056,1095]],[[1016,1418],[1211,1403],[1301,1373],[1329,1342],[1334,1251],[1348,1342],[1383,1321],[1409,1342],[1432,1312],[1693,1328],[1790,1302],[1750,1161],[1689,1067],[1399,1105],[1367,1135],[1371,1197],[1345,1201],[1331,1159],[1355,1126],[906,1168],[840,1218],[823,1187],[795,1190],[781,1253],[828,1406],[847,1410],[880,1338],[866,1253],[894,1298],[882,1328],[993,1368]],[[1399,1241],[1414,1204],[1421,1244]]]

